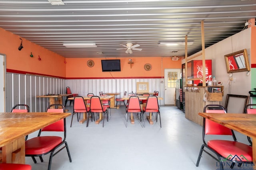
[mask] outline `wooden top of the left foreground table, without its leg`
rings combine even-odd
[[[50,125],[71,113],[0,113],[0,147]]]

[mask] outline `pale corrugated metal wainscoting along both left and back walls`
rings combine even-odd
[[[136,82],[149,82],[149,92],[159,91],[164,97],[164,85],[160,78],[145,79],[60,79],[29,74],[6,74],[6,112],[16,104],[27,104],[31,112],[45,111],[49,105],[48,98],[36,98],[46,94],[65,94],[66,86],[72,93],[86,96],[88,93],[99,95],[99,92],[136,92]],[[66,97],[62,100],[65,101]],[[164,105],[164,100],[159,100]]]

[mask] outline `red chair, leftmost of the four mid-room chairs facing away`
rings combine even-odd
[[[86,107],[86,104],[84,102],[84,98],[82,96],[74,97],[73,113],[72,113],[70,127],[72,127],[72,121],[73,121],[74,114],[77,114],[77,121],[79,121],[78,113],[87,114],[89,111],[90,111],[90,107]],[[88,117],[88,119],[89,119],[89,117]]]

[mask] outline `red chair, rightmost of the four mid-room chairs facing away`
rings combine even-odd
[[[159,119],[160,119],[160,127],[162,127],[162,123],[161,123],[161,115],[160,115],[160,111],[159,111],[159,105],[158,105],[158,99],[156,96],[148,96],[148,100],[146,102],[146,106],[143,107],[142,109],[142,122],[144,124],[145,127],[145,122],[144,122],[144,114],[145,113],[149,113],[152,115],[152,113],[156,113],[156,122],[157,122],[157,115],[159,114]],[[151,115],[149,115],[151,117]]]

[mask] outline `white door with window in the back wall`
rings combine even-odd
[[[164,104],[175,104],[176,80],[180,79],[181,69],[164,69]]]

